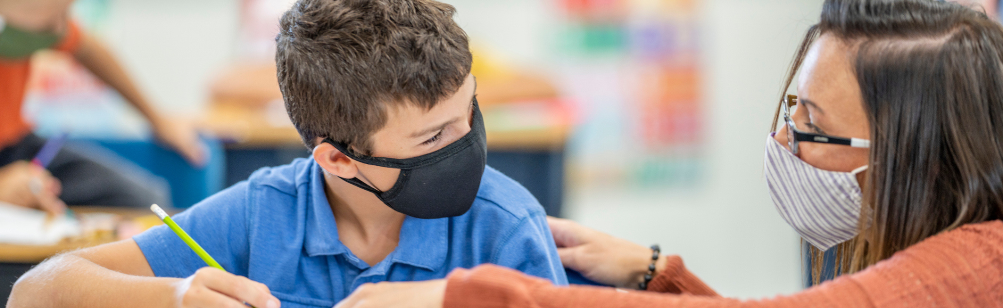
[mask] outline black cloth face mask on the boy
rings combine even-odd
[[[391,209],[407,216],[435,219],[463,215],[477,197],[480,176],[487,160],[484,122],[477,102],[473,102],[470,132],[455,142],[418,157],[394,159],[352,154],[348,145],[324,139],[355,161],[400,169],[397,182],[381,192],[358,178],[341,178],[376,195]]]

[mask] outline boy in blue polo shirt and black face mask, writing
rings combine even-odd
[[[176,217],[233,274],[161,226],[46,261],[8,307],[332,307],[363,283],[488,262],[566,284],[539,203],[484,167],[453,13],[431,0],[300,0],[283,16],[279,83],[313,159]]]

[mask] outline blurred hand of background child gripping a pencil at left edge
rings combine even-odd
[[[59,180],[35,164],[22,160],[0,168],[0,202],[58,216],[66,211],[66,204],[58,197],[61,190]]]

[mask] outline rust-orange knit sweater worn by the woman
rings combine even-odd
[[[930,237],[864,271],[788,296],[718,296],[671,256],[654,292],[557,287],[514,270],[481,265],[449,274],[453,307],[1003,307],[1003,222],[970,224]]]

